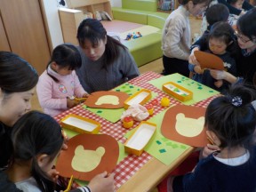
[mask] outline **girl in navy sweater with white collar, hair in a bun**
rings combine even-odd
[[[255,92],[244,85],[236,85],[229,95],[212,100],[204,125],[220,151],[200,160],[193,172],[169,178],[168,191],[255,192],[256,111],[252,100]]]

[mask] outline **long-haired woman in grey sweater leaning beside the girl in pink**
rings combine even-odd
[[[140,75],[130,52],[107,35],[99,20],[83,20],[76,37],[82,57],[76,74],[86,92],[108,91]]]

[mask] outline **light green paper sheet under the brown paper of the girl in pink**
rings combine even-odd
[[[140,91],[141,88],[133,84],[122,84],[116,87],[116,89],[114,89],[114,91],[116,90],[119,90],[119,92],[126,92],[131,96],[135,92],[138,92],[138,90]],[[156,92],[151,92],[151,93],[152,93],[152,99],[157,96]],[[99,108],[88,108],[85,105],[83,105],[82,107],[90,110],[92,113],[98,116],[101,116],[102,118],[107,119],[109,122],[112,122],[112,123],[116,123],[117,121],[119,121],[122,113],[124,112],[124,108],[114,108],[114,109],[100,108],[99,109]]]

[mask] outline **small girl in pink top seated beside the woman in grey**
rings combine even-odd
[[[81,67],[81,56],[72,44],[60,44],[52,52],[52,60],[39,77],[36,92],[44,113],[57,116],[86,98],[88,93],[80,84],[75,69]]]

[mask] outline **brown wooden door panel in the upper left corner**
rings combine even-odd
[[[41,74],[50,60],[50,47],[40,2],[1,0],[0,13],[0,49],[20,55]]]

